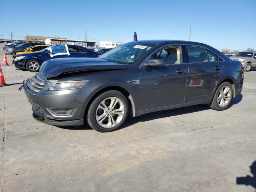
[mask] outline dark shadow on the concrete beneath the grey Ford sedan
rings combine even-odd
[[[230,107],[238,104],[242,100],[242,98],[243,98],[243,95],[239,94],[236,98],[234,98],[232,100]],[[152,113],[144,114],[142,116],[138,116],[138,117],[134,117],[134,118],[128,117],[128,120],[126,121],[124,126],[122,126],[120,129],[126,128],[126,127],[136,124],[138,122],[146,122],[146,121],[150,121],[150,120],[154,120],[154,119],[183,115],[183,114],[204,111],[204,110],[209,110],[209,109],[210,108],[208,107],[208,105],[201,104],[201,105],[194,105],[194,106],[183,107],[183,108],[176,108],[176,109],[152,112]],[[70,129],[70,130],[71,129],[72,130],[87,130],[87,129],[90,130],[90,129],[92,129],[90,126],[88,126],[87,123],[85,123],[82,126],[68,126],[68,127],[60,127],[60,128]]]

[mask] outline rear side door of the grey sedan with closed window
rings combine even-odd
[[[186,46],[188,59],[188,88],[185,106],[189,102],[204,102],[211,98],[223,72],[222,59],[201,46]]]

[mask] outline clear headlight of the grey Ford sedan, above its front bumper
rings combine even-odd
[[[68,89],[78,89],[86,85],[88,80],[84,81],[58,81],[51,80],[48,82],[49,90],[68,90]]]

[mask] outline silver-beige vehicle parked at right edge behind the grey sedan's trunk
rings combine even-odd
[[[256,67],[256,51],[242,51],[230,58],[242,62],[245,71]]]

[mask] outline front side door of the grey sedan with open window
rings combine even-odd
[[[171,106],[182,107],[186,95],[188,65],[182,63],[181,46],[166,46],[149,59],[162,59],[165,65],[142,65],[140,68],[140,112],[143,114]]]

